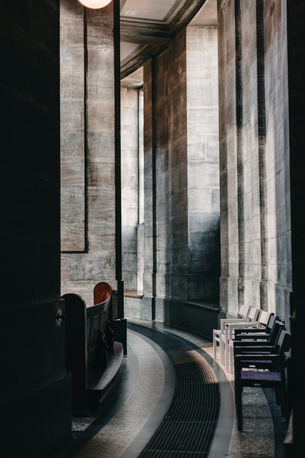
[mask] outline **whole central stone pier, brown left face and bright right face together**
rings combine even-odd
[[[144,295],[217,300],[215,27],[182,30],[144,65],[144,177]]]

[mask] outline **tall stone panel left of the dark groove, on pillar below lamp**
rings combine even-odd
[[[84,18],[76,4],[60,3],[62,251],[85,249]]]

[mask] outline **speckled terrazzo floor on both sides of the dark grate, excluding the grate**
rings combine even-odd
[[[239,432],[232,392],[234,377],[214,362],[213,344],[160,322],[136,318],[128,318],[128,321],[171,333],[196,345],[195,351],[221,381],[219,421],[208,458],[284,457],[285,424],[269,390],[244,390],[243,432]],[[75,443],[54,458],[138,458],[166,416],[175,389],[171,361],[152,340],[130,330],[127,336],[128,357],[123,359],[106,415],[102,420],[74,418]]]

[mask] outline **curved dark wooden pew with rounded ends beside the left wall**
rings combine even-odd
[[[97,415],[114,386],[123,360],[123,346],[113,341],[112,289],[94,288],[94,305],[86,307],[78,294],[64,294],[66,302],[66,367],[72,378],[72,411]],[[110,318],[110,320],[109,320]]]

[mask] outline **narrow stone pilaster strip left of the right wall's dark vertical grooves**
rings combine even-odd
[[[238,304],[238,215],[236,171],[235,10],[234,1],[218,2],[219,159],[221,308]],[[224,46],[224,43],[226,44]]]

